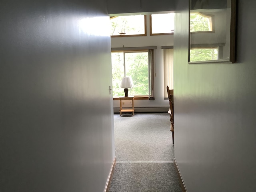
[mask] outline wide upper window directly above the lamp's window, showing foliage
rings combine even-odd
[[[146,15],[110,17],[111,37],[146,36]]]

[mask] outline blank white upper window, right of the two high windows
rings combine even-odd
[[[150,15],[150,35],[173,34],[174,13]]]

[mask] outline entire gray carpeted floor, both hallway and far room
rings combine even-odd
[[[116,167],[109,192],[182,192],[168,113],[114,114]]]

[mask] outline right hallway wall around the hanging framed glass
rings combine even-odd
[[[188,64],[188,1],[177,3],[175,158],[188,192],[256,191],[256,1],[237,3],[235,64]]]

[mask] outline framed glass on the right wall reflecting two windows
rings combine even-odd
[[[235,0],[190,0],[189,63],[235,62]]]

